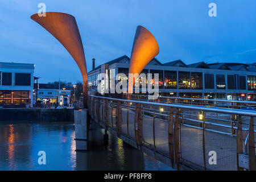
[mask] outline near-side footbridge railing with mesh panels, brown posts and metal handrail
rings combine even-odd
[[[177,169],[182,164],[193,169],[241,170],[238,156],[246,151],[249,134],[250,169],[256,169],[255,111],[99,96],[89,96],[88,102],[95,121],[114,129],[118,137],[133,140],[138,148],[170,159]],[[216,164],[209,159],[211,151],[217,154]]]

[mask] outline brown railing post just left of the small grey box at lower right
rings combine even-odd
[[[242,134],[242,117],[238,116],[237,125],[237,171],[243,171],[243,168],[239,167],[239,154],[243,154],[243,134]]]

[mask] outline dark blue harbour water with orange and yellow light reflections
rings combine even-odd
[[[76,152],[73,123],[0,124],[0,170],[168,170],[170,167],[109,134],[93,123],[90,150]],[[38,152],[46,152],[46,165],[38,164]]]

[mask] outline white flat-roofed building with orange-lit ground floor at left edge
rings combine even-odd
[[[32,107],[34,64],[0,62],[0,106]]]

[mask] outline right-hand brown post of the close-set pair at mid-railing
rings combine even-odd
[[[180,110],[176,109],[174,122],[174,153],[177,169],[180,169]]]

